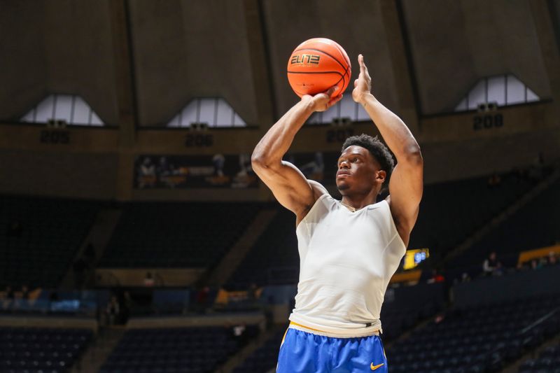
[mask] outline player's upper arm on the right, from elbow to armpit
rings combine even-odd
[[[399,162],[389,181],[391,212],[410,232],[418,218],[423,192],[423,162]]]

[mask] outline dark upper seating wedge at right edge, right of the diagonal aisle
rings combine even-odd
[[[453,267],[475,266],[490,251],[507,267],[517,264],[519,252],[555,244],[560,241],[560,181],[556,181],[533,201],[516,211],[481,241],[456,258]]]

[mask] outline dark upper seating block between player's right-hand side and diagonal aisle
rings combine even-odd
[[[472,232],[512,204],[531,183],[514,174],[500,176],[490,186],[489,176],[426,185],[409,248],[430,248],[444,255]]]

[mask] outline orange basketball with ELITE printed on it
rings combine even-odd
[[[337,85],[337,96],[350,83],[351,64],[344,49],[328,38],[311,38],[304,41],[288,59],[288,81],[297,94],[317,94]]]

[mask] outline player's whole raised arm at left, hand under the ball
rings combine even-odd
[[[283,161],[282,157],[312,113],[325,111],[342,98],[339,95],[330,99],[334,90],[335,87],[332,87],[328,92],[302,97],[268,130],[251,156],[255,173],[272,190],[280,204],[295,213],[297,223],[304,218],[318,196],[326,191],[318,183],[307,181],[297,167]]]

